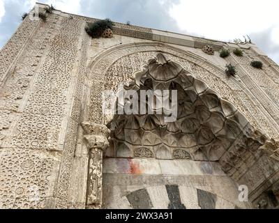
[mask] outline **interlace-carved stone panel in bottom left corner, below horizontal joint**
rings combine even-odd
[[[54,189],[54,158],[17,148],[0,157],[0,208],[45,208]]]

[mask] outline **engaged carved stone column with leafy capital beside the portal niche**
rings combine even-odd
[[[110,130],[105,125],[82,123],[86,146],[89,149],[86,208],[102,206],[103,151],[109,145]]]

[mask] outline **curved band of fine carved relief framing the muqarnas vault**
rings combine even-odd
[[[198,59],[195,59],[195,57],[192,55],[186,56],[185,54],[180,53],[179,50],[174,51],[173,49],[168,48],[166,45],[161,48],[160,45],[158,45],[158,47],[162,52],[167,52],[169,59],[181,63],[183,68],[187,68],[196,77],[206,80],[206,83],[209,84],[211,89],[214,89],[220,93],[221,97],[231,101],[239,109],[239,111],[245,114],[252,125],[257,128],[261,128],[271,137],[278,136],[278,130],[273,128],[273,125],[268,119],[265,118],[266,114],[262,114],[259,108],[255,107],[255,104],[253,104],[252,100],[250,99],[250,95],[247,95],[247,91],[245,90],[246,87],[241,86],[241,83],[235,81],[234,79],[228,79],[226,75],[224,75],[223,71],[220,72],[220,70],[213,68],[212,66],[209,66]],[[92,75],[100,75],[101,79],[97,78],[98,83],[94,84],[94,87],[92,86],[91,88],[91,100],[93,103],[90,108],[90,118],[96,117],[95,120],[92,119],[91,121],[100,120],[99,116],[101,114],[101,110],[97,112],[98,108],[96,108],[96,106],[93,107],[93,104],[100,104],[100,101],[98,100],[98,98],[101,97],[101,90],[98,90],[98,88],[100,88],[100,84],[104,82],[105,89],[113,89],[116,91],[119,84],[128,82],[133,73],[137,70],[140,70],[140,66],[144,63],[146,58],[155,56],[158,47],[155,48],[145,44],[138,45],[137,47],[119,49],[117,53],[110,53],[111,56],[107,56],[106,62],[104,63],[112,63],[112,66],[107,69],[105,74],[103,62],[97,60],[98,63],[96,62],[96,66],[93,65],[92,67],[94,70]],[[133,53],[135,51],[144,52]],[[129,55],[125,56],[125,54]],[[119,57],[120,59],[117,59]],[[102,81],[103,75],[105,75],[105,79]],[[97,93],[98,91],[99,93]],[[107,123],[106,120],[105,123]]]

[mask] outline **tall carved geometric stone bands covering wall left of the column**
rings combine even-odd
[[[79,117],[75,108],[71,109],[71,118],[65,114],[68,114],[67,103],[73,98],[69,89],[77,82],[73,70],[81,59],[78,47],[84,24],[75,18],[49,15],[47,22],[40,23],[7,80],[5,93],[0,95],[0,119],[6,119],[0,130],[1,147],[5,148],[0,155],[0,188],[4,199],[0,202],[6,204],[5,208],[45,208],[49,203],[54,207],[54,196],[58,198],[56,208],[67,207]],[[84,79],[82,75],[79,81]],[[80,93],[78,86],[75,96]],[[27,97],[22,105],[22,98]],[[80,107],[78,101],[74,106]],[[64,140],[61,156],[56,152],[63,150]],[[31,161],[34,164],[28,171],[22,170],[19,164],[27,160],[24,167]]]

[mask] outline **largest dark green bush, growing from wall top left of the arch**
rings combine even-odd
[[[86,33],[92,38],[99,38],[106,29],[113,30],[114,23],[110,19],[98,20],[85,27]]]

